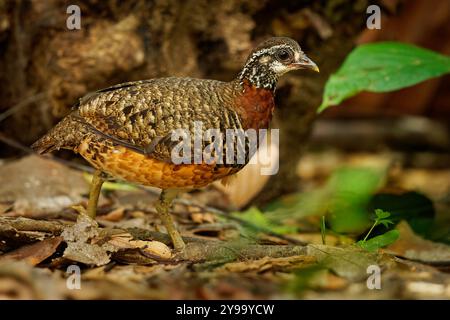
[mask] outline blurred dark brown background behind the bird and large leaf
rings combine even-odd
[[[443,54],[450,50],[446,0],[378,1],[380,30],[366,28],[370,3],[364,0],[86,0],[76,2],[81,29],[68,30],[72,2],[0,2],[2,134],[28,146],[79,97],[120,82],[168,75],[230,80],[255,43],[292,37],[321,73],[289,74],[279,85],[274,126],[282,129],[281,168],[259,196],[263,202],[299,187],[295,168],[310,140],[324,83],[356,44],[392,40]],[[313,140],[345,148],[421,144],[448,150],[448,84],[445,76],[394,93],[360,94],[322,114]],[[420,128],[416,122],[410,128],[409,117],[420,117]],[[18,154],[1,144],[1,157]]]

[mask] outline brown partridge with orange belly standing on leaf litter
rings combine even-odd
[[[31,147],[39,154],[69,149],[94,168],[86,213],[95,219],[104,181],[118,178],[161,189],[155,208],[176,251],[185,243],[170,215],[183,191],[226,179],[248,162],[175,163],[176,130],[193,133],[195,123],[228,129],[268,129],[278,79],[298,69],[319,72],[297,41],[272,37],[253,48],[231,81],[165,77],[125,82],[80,98],[71,112]],[[203,147],[203,144],[202,144]]]

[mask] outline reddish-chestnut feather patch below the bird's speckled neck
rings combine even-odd
[[[245,81],[243,93],[237,98],[236,106],[244,120],[245,129],[266,129],[275,109],[273,91],[256,88]]]

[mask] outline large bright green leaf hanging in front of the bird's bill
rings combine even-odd
[[[325,85],[318,112],[361,91],[389,92],[450,72],[450,58],[398,42],[356,47]]]

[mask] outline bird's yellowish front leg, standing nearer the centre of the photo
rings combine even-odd
[[[185,247],[184,241],[175,227],[172,216],[169,213],[169,209],[172,207],[172,201],[176,198],[177,194],[178,192],[176,190],[161,191],[159,200],[156,203],[156,211],[158,212],[159,218],[164,223],[167,233],[172,239],[175,250],[182,251]]]

